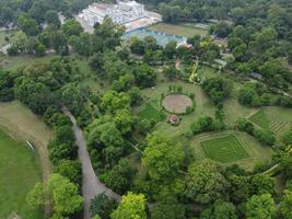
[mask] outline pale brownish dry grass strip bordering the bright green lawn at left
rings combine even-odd
[[[51,164],[48,159],[47,145],[51,130],[19,101],[9,103],[0,102],[0,127],[13,138],[30,140],[37,149],[44,182],[51,173]]]

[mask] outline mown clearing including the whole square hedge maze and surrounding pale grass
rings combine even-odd
[[[196,160],[209,157],[224,165],[236,163],[246,170],[257,162],[270,161],[272,154],[271,148],[261,146],[252,136],[231,130],[195,136],[191,148]]]

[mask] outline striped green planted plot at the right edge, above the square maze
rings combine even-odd
[[[289,129],[292,122],[292,110],[267,106],[258,110],[248,119],[258,127],[270,129],[276,135],[281,135]]]

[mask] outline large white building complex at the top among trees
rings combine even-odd
[[[143,4],[129,0],[117,0],[117,4],[93,3],[77,16],[81,24],[90,27],[93,27],[95,23],[102,23],[105,18],[124,24],[127,30],[161,21],[160,14],[149,12]]]

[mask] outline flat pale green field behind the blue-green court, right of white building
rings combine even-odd
[[[157,23],[149,27],[152,31],[164,32],[166,34],[180,35],[186,37],[191,37],[195,35],[207,35],[208,31],[203,28],[196,27],[195,24],[167,24],[167,23]]]

